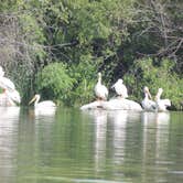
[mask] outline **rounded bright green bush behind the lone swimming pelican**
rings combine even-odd
[[[44,98],[50,97],[68,104],[75,79],[71,78],[66,65],[52,63],[39,72],[36,88]]]

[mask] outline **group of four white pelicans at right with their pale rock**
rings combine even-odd
[[[162,88],[159,88],[159,92],[155,96],[155,100],[152,100],[152,96],[147,86],[143,87],[144,98],[141,101],[141,105],[137,101],[127,99],[128,98],[128,89],[123,84],[123,80],[119,78],[111,88],[115,89],[117,97],[110,98],[108,97],[108,89],[105,85],[101,84],[101,73],[98,73],[98,80],[95,86],[95,95],[97,96],[97,100],[83,105],[80,107],[82,110],[86,109],[105,109],[105,110],[137,110],[137,111],[165,111],[166,107],[171,105],[169,99],[161,99]]]

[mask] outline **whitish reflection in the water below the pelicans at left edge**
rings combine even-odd
[[[19,107],[0,107],[0,182],[13,182]]]

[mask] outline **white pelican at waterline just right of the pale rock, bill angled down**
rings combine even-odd
[[[149,88],[147,86],[144,86],[143,93],[144,93],[144,99],[141,103],[143,109],[147,111],[155,111],[157,104],[155,104],[155,101],[151,100],[152,97],[151,97],[151,94],[150,94]]]

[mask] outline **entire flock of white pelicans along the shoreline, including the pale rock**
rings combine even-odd
[[[13,82],[4,76],[4,71],[0,66],[0,88],[3,93],[0,94],[0,106],[9,107],[17,106],[17,104],[21,103],[21,97],[19,92],[15,89]],[[146,111],[166,111],[166,108],[171,106],[170,99],[161,99],[161,95],[163,93],[162,88],[158,89],[154,101],[152,100],[152,96],[149,92],[149,88],[144,86],[143,93],[144,98],[141,101],[141,105],[127,99],[128,98],[128,89],[123,84],[123,80],[119,78],[111,88],[115,89],[117,97],[110,98],[107,100],[109,92],[108,88],[101,82],[101,73],[98,73],[98,80],[95,85],[94,92],[96,95],[96,100],[89,104],[86,104],[80,107],[82,110],[85,109],[97,109],[101,108],[105,110],[146,110]],[[56,105],[52,100],[40,101],[41,96],[39,94],[34,95],[34,97],[30,100],[29,105],[34,101],[34,109],[49,109],[55,108]]]

